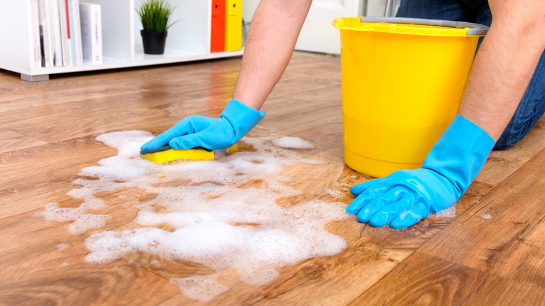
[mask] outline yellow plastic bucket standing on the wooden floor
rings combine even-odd
[[[337,18],[344,161],[384,177],[420,168],[460,105],[479,36],[467,22]]]

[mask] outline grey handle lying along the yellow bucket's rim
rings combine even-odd
[[[488,33],[489,27],[483,24],[451,21],[451,20],[435,20],[421,18],[405,18],[405,17],[361,17],[361,22],[377,22],[377,23],[401,23],[401,24],[422,24],[437,27],[451,27],[458,29],[467,28],[467,36],[484,36]]]

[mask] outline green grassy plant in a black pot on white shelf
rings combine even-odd
[[[170,23],[170,16],[174,8],[164,0],[144,0],[136,8],[136,12],[144,28],[140,31],[144,53],[163,54],[165,52],[166,35]]]

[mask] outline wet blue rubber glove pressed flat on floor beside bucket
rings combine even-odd
[[[406,228],[450,207],[460,198],[488,158],[494,140],[476,124],[456,115],[432,147],[422,168],[399,170],[357,184],[347,207],[371,226]]]

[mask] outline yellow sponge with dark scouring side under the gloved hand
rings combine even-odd
[[[229,153],[236,152],[238,146],[235,143],[228,148]],[[203,147],[195,147],[188,150],[175,150],[169,145],[158,147],[156,149],[140,151],[140,156],[154,163],[166,163],[167,161],[175,161],[176,159],[191,159],[194,161],[204,161],[214,159],[214,152]]]

